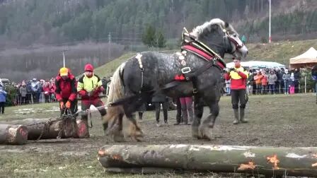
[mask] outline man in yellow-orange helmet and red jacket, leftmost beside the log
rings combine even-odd
[[[55,95],[59,102],[59,108],[61,109],[61,115],[64,113],[64,109],[69,109],[71,113],[77,111],[77,89],[76,78],[72,75],[66,67],[59,69],[59,74],[55,80]]]

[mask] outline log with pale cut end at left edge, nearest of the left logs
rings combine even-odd
[[[23,145],[28,141],[28,129],[21,125],[0,124],[0,144]]]

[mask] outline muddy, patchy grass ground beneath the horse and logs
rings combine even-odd
[[[56,117],[57,103],[8,107],[0,121]],[[220,114],[212,141],[191,137],[191,127],[174,126],[175,111],[168,112],[169,126],[156,126],[154,112],[144,114],[141,123],[145,137],[141,143],[119,144],[213,144],[231,146],[316,147],[316,96],[250,96],[246,108],[248,124],[233,125],[230,97],[221,97]],[[209,110],[204,109],[204,116]],[[161,120],[163,116],[161,114]],[[96,159],[101,146],[113,143],[103,136],[100,117],[93,114],[91,138],[28,141],[24,146],[0,146],[0,177],[149,177],[147,175],[110,174]],[[245,177],[242,174],[154,174],[151,177]],[[258,176],[258,175],[254,175]]]

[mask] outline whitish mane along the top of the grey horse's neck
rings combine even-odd
[[[195,37],[206,35],[212,29],[212,25],[219,25],[221,28],[228,30],[230,34],[235,33],[238,35],[236,30],[234,30],[234,28],[229,23],[224,22],[224,20],[221,20],[220,18],[213,18],[202,25],[198,25],[192,30],[192,32],[190,32],[190,34],[194,35]]]

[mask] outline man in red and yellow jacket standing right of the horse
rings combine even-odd
[[[246,79],[248,78],[248,71],[245,71],[241,67],[240,60],[234,59],[234,69],[227,70],[224,74],[226,81],[231,79],[231,104],[234,108],[234,124],[246,123],[244,119],[244,108],[246,107],[246,102],[248,102],[246,95]],[[240,119],[238,112],[238,103],[240,101]]]

